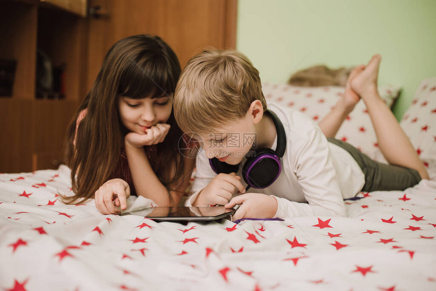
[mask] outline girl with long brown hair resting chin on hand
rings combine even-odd
[[[173,50],[151,35],[127,37],[107,52],[67,131],[75,195],[66,203],[95,198],[103,214],[126,209],[130,194],[178,204],[195,166],[178,150],[183,132],[172,113],[180,70]]]

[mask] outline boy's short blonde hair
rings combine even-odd
[[[191,58],[174,92],[174,117],[185,132],[203,135],[245,117],[251,102],[267,103],[259,71],[235,50],[206,50]]]

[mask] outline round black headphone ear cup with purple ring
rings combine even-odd
[[[255,156],[247,158],[242,168],[242,177],[252,188],[263,189],[270,186],[280,172],[280,159],[273,150],[265,148],[256,151]]]

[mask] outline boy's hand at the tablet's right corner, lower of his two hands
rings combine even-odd
[[[236,196],[225,207],[232,208],[235,205],[241,206],[233,214],[233,221],[246,217],[273,218],[277,213],[277,200],[275,197],[260,193],[247,193]]]

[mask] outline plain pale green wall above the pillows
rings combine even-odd
[[[403,87],[399,119],[420,81],[436,76],[435,27],[435,0],[239,0],[236,47],[274,83],[294,68],[356,65],[380,53],[379,85]]]

